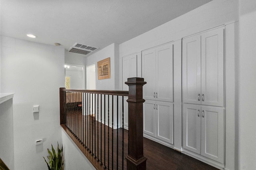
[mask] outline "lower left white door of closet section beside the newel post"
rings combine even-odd
[[[144,133],[156,137],[156,104],[153,100],[146,100],[143,103],[143,130]]]

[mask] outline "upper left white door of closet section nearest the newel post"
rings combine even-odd
[[[156,59],[155,49],[149,49],[142,52],[142,77],[145,84],[143,86],[143,97],[148,100],[155,100],[155,84],[156,84]]]

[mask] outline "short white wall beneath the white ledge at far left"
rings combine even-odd
[[[0,158],[14,170],[12,99],[0,104]]]

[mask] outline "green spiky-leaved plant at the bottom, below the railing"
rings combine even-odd
[[[49,155],[47,158],[49,159],[49,163],[45,160],[44,156],[44,161],[46,162],[48,166],[48,170],[63,170],[64,169],[64,160],[63,160],[63,146],[61,149],[59,149],[59,143],[57,147],[57,153],[55,152],[53,146],[52,146],[52,152],[48,150]]]

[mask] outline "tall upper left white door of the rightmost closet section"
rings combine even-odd
[[[182,39],[183,102],[201,104],[201,37]]]

